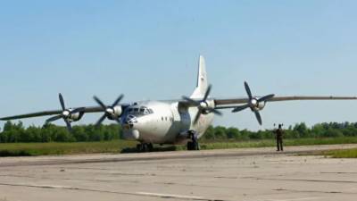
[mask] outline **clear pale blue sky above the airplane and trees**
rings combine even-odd
[[[212,96],[357,96],[357,1],[1,1],[0,116],[177,99],[206,60]],[[357,101],[269,103],[214,125],[270,129],[357,121]],[[93,123],[87,114],[79,123]],[[23,120],[41,125],[46,118]],[[109,122],[109,121],[106,121]],[[58,121],[62,125],[62,121]],[[3,127],[3,123],[0,124]]]

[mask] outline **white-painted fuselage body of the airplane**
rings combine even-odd
[[[124,138],[132,139],[133,137],[130,136],[130,133],[133,133],[133,130],[135,130],[138,131],[138,138],[135,139],[145,143],[184,143],[186,140],[179,139],[178,137],[180,133],[187,130],[195,130],[198,138],[200,138],[211,125],[214,117],[213,113],[202,114],[199,121],[194,125],[193,121],[198,109],[196,107],[188,107],[186,110],[182,110],[182,108],[179,108],[179,102],[140,102],[137,105],[129,106],[126,111],[137,107],[149,108],[154,113],[137,115],[137,122],[130,129],[125,129],[124,120],[128,113],[124,113],[121,117]]]

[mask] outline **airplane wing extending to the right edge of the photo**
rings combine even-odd
[[[266,102],[298,101],[298,100],[357,100],[357,96],[274,96]],[[249,98],[215,99],[216,109],[235,108],[246,104]]]

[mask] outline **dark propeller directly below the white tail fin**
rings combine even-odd
[[[210,107],[207,103],[207,98],[208,98],[208,96],[210,96],[211,89],[212,89],[212,85],[208,86],[206,92],[204,93],[203,99],[200,101],[196,101],[196,100],[189,98],[187,96],[182,96],[182,98],[185,99],[189,104],[195,105],[198,108],[198,112],[195,114],[195,121],[194,121],[195,124],[199,120],[201,114],[215,113],[217,115],[222,115],[222,113],[220,113],[220,111],[218,111],[215,108]]]

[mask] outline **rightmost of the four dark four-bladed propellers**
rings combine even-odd
[[[261,113],[259,113],[258,106],[260,103],[265,103],[266,101],[269,101],[272,97],[274,97],[274,94],[270,94],[267,96],[262,96],[260,98],[253,97],[251,88],[249,88],[248,83],[245,81],[245,91],[246,94],[248,95],[248,102],[245,105],[240,105],[237,106],[236,108],[233,109],[232,113],[237,113],[240,111],[243,111],[247,108],[251,108],[252,112],[255,114],[255,117],[257,121],[259,122],[260,125],[262,125],[262,116]]]

